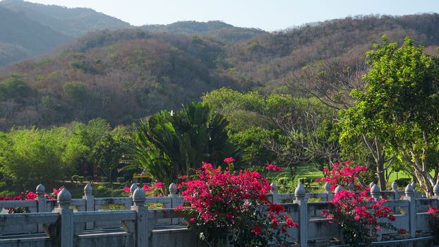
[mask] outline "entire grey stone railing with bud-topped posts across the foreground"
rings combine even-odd
[[[350,186],[348,186],[350,187]],[[273,203],[282,203],[287,215],[299,222],[299,228],[289,229],[291,241],[299,246],[328,246],[342,234],[337,224],[330,224],[322,211],[330,207],[334,193],[325,184],[323,193],[306,193],[299,183],[294,193],[277,193],[275,184],[268,198]],[[133,184],[132,196],[126,198],[94,198],[92,186],[86,185],[84,196],[72,199],[64,189],[57,200],[44,197],[44,186],[37,186],[35,200],[0,201],[0,208],[27,207],[30,213],[0,215],[0,246],[203,246],[194,234],[182,224],[181,215],[174,207],[184,200],[176,193],[176,186],[169,186],[166,197],[146,198],[145,193]],[[431,216],[428,207],[439,207],[439,185],[434,188],[435,198],[419,198],[409,184],[405,191],[380,191],[371,185],[371,196],[378,200],[387,198],[385,205],[392,208],[397,229],[407,229],[409,239],[398,241],[428,241],[431,235]],[[404,195],[404,199],[401,199]],[[320,198],[320,202],[308,202],[309,198]],[[148,203],[163,203],[166,208],[148,209]],[[126,210],[99,211],[102,205],[124,205]],[[383,241],[396,231],[382,231]],[[395,242],[395,240],[393,240]],[[385,246],[387,242],[375,243]],[[337,244],[337,243],[334,243]]]

